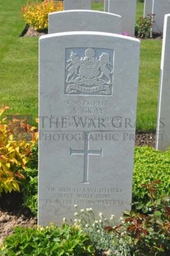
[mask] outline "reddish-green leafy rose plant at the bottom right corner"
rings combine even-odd
[[[124,228],[130,236],[130,251],[134,256],[156,256],[170,254],[170,206],[157,205],[155,184],[144,185],[153,201],[153,213],[125,212]]]

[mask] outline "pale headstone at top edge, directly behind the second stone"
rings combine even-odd
[[[91,0],[64,0],[64,10],[91,10]]]

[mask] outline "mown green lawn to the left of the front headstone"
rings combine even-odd
[[[0,0],[0,98],[10,113],[38,116],[38,38],[19,37],[26,0]]]

